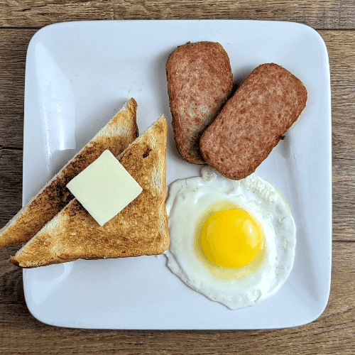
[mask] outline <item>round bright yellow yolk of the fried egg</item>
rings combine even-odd
[[[243,209],[214,212],[202,225],[200,247],[211,263],[240,268],[251,263],[263,248],[263,230]]]

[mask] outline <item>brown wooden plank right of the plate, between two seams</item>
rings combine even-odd
[[[333,239],[355,241],[355,31],[319,31],[332,82]]]

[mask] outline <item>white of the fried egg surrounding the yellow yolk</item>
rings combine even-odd
[[[290,207],[275,187],[256,174],[229,180],[209,166],[201,173],[202,177],[170,185],[168,268],[190,288],[231,310],[256,305],[277,293],[292,270],[296,235]],[[196,248],[200,220],[224,204],[245,209],[263,227],[263,257],[246,268],[213,266]]]

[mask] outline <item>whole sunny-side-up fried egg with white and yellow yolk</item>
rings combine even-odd
[[[295,258],[295,221],[275,187],[255,173],[229,180],[204,166],[170,185],[170,271],[231,310],[280,290]]]

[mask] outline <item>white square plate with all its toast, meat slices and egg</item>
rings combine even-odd
[[[17,244],[41,322],[271,329],[327,305],[330,79],[275,21],[82,21],[26,59]]]

